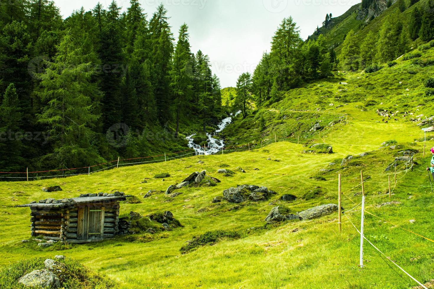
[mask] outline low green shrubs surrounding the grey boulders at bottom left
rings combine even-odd
[[[20,279],[26,273],[33,270],[44,269],[44,260],[46,258],[33,258],[29,260],[21,260],[12,265],[0,270],[0,288],[25,288],[18,284]],[[116,288],[115,282],[106,276],[97,273],[83,266],[79,262],[66,258],[58,260],[65,266],[62,272],[56,272],[60,279],[63,288],[71,289],[87,289],[87,288]]]

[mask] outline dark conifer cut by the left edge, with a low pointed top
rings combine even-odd
[[[0,167],[5,171],[13,172],[21,169],[23,144],[22,140],[16,137],[22,125],[22,117],[18,94],[15,85],[11,83],[0,105],[0,148],[2,152]]]

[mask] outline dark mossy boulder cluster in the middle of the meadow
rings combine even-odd
[[[240,185],[236,188],[228,188],[223,191],[224,200],[230,203],[242,203],[244,201],[266,201],[270,195],[276,195],[276,192],[269,190],[267,187],[257,185]]]

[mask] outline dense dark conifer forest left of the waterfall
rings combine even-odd
[[[178,41],[167,10],[76,10],[53,1],[0,6],[0,132],[4,172],[72,168],[185,148],[180,130],[221,118],[210,57]]]

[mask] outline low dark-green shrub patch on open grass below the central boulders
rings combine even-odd
[[[191,241],[189,241],[186,245],[182,246],[180,251],[181,253],[188,253],[202,246],[212,246],[217,244],[220,240],[237,240],[241,238],[241,234],[237,231],[228,231],[228,230],[217,230],[217,231],[209,231],[200,236],[194,236]]]

